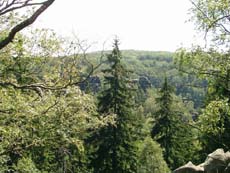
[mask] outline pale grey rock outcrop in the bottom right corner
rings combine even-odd
[[[223,149],[217,149],[209,154],[205,162],[200,165],[194,165],[188,162],[173,171],[173,173],[230,173],[230,152],[224,152]]]

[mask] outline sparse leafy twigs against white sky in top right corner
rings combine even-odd
[[[227,48],[229,42],[230,8],[227,0],[192,0],[192,21],[199,31],[205,32],[210,46]],[[218,46],[217,46],[218,45]],[[222,46],[221,46],[222,45]]]

